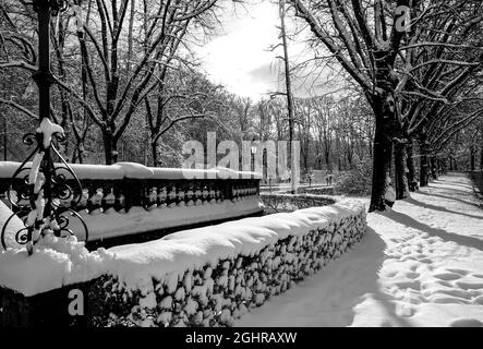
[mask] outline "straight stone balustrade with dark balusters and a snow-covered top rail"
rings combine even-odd
[[[20,165],[0,163],[0,195],[7,194],[10,179]],[[63,183],[58,188],[73,191],[73,195],[63,195],[68,200],[59,205],[80,213],[87,225],[89,241],[243,217],[263,210],[258,196],[261,178],[253,172],[225,168],[148,168],[134,163],[74,164],[71,167],[83,191],[75,192],[79,186],[75,179],[61,164],[56,164],[56,178]],[[20,205],[28,191],[25,178],[29,168],[27,164],[12,183],[11,200]],[[24,200],[24,204],[28,202]],[[80,224],[79,219],[71,219],[70,229],[82,228],[76,227]]]

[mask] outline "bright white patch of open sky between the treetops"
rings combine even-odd
[[[279,86],[278,83],[277,62],[280,60],[276,59],[277,55],[281,55],[281,49],[269,51],[271,45],[280,41],[278,7],[268,0],[253,0],[244,8],[237,7],[234,11],[229,1],[224,3],[219,34],[196,48],[203,69],[214,83],[254,100],[266,96],[268,92],[283,91],[283,85]],[[307,55],[313,55],[311,51],[303,53],[304,47],[304,44],[291,43],[290,60],[301,61]],[[313,94],[313,91],[307,91],[314,86],[310,80],[295,81],[294,94]],[[318,82],[326,80],[326,74],[325,79],[318,77]],[[316,91],[319,93],[325,88],[317,87]]]

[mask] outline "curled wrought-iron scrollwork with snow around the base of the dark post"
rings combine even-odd
[[[25,227],[15,233],[10,244],[27,245],[29,254],[38,240],[50,232],[56,237],[75,236],[79,240],[88,240],[87,226],[73,209],[83,196],[81,182],[51,140],[48,146],[45,145],[45,134],[40,131],[24,136],[24,143],[35,144],[35,148],[20,166],[11,163],[16,170],[10,181],[2,179],[0,185],[9,183],[7,198],[14,212],[2,227],[1,244],[3,249],[9,246],[5,232],[17,216]],[[63,141],[61,133],[53,132],[51,137],[57,142]],[[52,155],[58,157],[59,163],[53,163]],[[28,163],[31,159],[34,160]],[[69,205],[65,205],[67,202]],[[74,232],[69,228],[72,219],[80,220],[81,224],[75,226],[82,227],[83,231]]]

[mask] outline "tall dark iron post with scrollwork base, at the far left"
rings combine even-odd
[[[17,231],[14,238],[17,245],[26,245],[28,254],[34,252],[35,243],[46,234],[74,236],[75,233],[68,228],[72,217],[81,221],[80,227],[84,228],[85,240],[88,238],[86,225],[72,209],[82,198],[81,182],[52,144],[52,139],[63,141],[64,134],[63,129],[50,120],[50,86],[55,82],[50,71],[50,16],[65,11],[69,2],[34,0],[33,5],[38,17],[38,70],[32,77],[38,86],[39,127],[35,134],[28,133],[23,140],[28,145],[37,145],[12,176],[9,188],[9,200],[15,213],[26,216],[25,228]],[[75,8],[79,9],[79,5]],[[79,28],[79,13],[75,13],[75,16]],[[60,159],[60,165],[53,163],[53,156]],[[31,159],[32,165],[27,165]],[[25,200],[27,204],[23,203]],[[9,241],[5,238],[9,231],[7,227],[14,215],[2,228],[1,243],[5,250]]]

